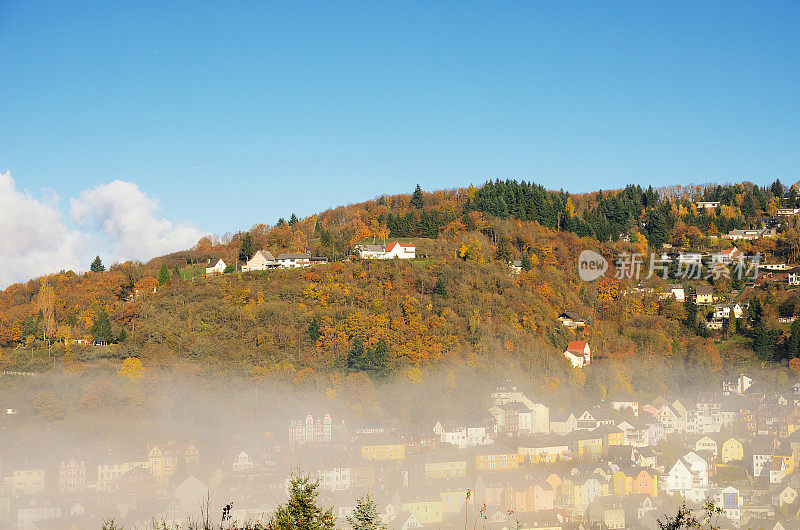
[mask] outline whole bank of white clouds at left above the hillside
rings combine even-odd
[[[59,198],[17,189],[0,173],[0,288],[57,272],[86,270],[100,254],[106,264],[149,259],[194,245],[203,235],[188,222],[157,217],[158,201],[132,182],[115,180],[70,200],[68,226]]]

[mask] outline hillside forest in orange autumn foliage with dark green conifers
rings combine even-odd
[[[698,210],[700,200],[720,204]],[[614,278],[613,263],[622,253],[644,255],[665,244],[730,248],[730,240],[715,236],[767,226],[778,208],[798,202],[795,188],[780,182],[571,195],[494,181],[434,193],[417,188],[304,219],[288,212],[288,221],[204,238],[148,263],[105,270],[98,259],[94,272],[62,271],[10,286],[0,293],[0,364],[80,372],[132,357],[145,368],[289,378],[333,393],[348,377],[414,380],[454,365],[524,371],[551,392],[602,393],[658,391],[680,381],[680,374],[664,375],[672,366],[665,359],[709,367],[717,377],[763,360],[786,366],[800,334],[777,318],[797,313],[794,291],[751,289],[758,315],[709,336],[694,304],[659,296],[673,278],[653,277],[647,288],[634,289],[638,279]],[[397,239],[413,241],[417,258],[352,257],[356,244]],[[795,217],[784,218],[775,237],[736,245],[793,263],[800,248]],[[238,272],[258,249],[309,251],[331,262]],[[584,249],[612,263],[606,277],[578,278]],[[206,278],[205,267],[218,258],[233,272]],[[513,260],[522,262],[521,272],[509,268]],[[695,283],[705,284],[686,287]],[[720,296],[744,288],[728,278],[711,284]],[[573,331],[559,321],[562,312],[588,325]],[[591,369],[570,367],[562,355],[570,340],[589,341]]]

